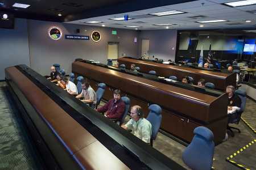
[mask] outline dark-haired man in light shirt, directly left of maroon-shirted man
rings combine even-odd
[[[91,108],[95,108],[97,104],[96,92],[90,87],[90,83],[87,79],[82,82],[82,92],[76,96],[77,99],[82,99],[81,101],[88,104]]]

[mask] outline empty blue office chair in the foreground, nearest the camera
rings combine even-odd
[[[210,170],[214,154],[213,133],[203,126],[195,128],[193,133],[195,136],[185,148],[182,160],[191,169]]]

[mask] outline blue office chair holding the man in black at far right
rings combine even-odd
[[[241,99],[241,110],[237,111],[235,113],[228,114],[228,116],[229,116],[228,124],[239,124],[241,115],[242,115],[243,111],[245,111],[246,91],[236,90],[235,94],[238,95]],[[239,133],[241,133],[240,129],[231,127],[229,125],[228,125],[227,129],[230,131],[232,137],[234,137],[234,131],[232,129],[236,129],[236,130],[238,130]]]

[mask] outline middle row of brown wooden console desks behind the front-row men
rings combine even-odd
[[[145,117],[148,105],[160,105],[163,108],[161,128],[185,142],[191,142],[197,126],[212,130],[216,144],[225,137],[228,97],[224,93],[205,94],[86,61],[73,62],[72,72],[88,78],[94,90],[98,83],[105,83],[106,100],[113,98],[115,88],[120,89],[123,96],[130,98],[131,105],[141,105]]]

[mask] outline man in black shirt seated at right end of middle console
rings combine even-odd
[[[228,94],[228,113],[233,113],[235,111],[240,111],[241,109],[241,99],[239,96],[235,94],[234,86],[227,86],[226,87],[226,94]]]

